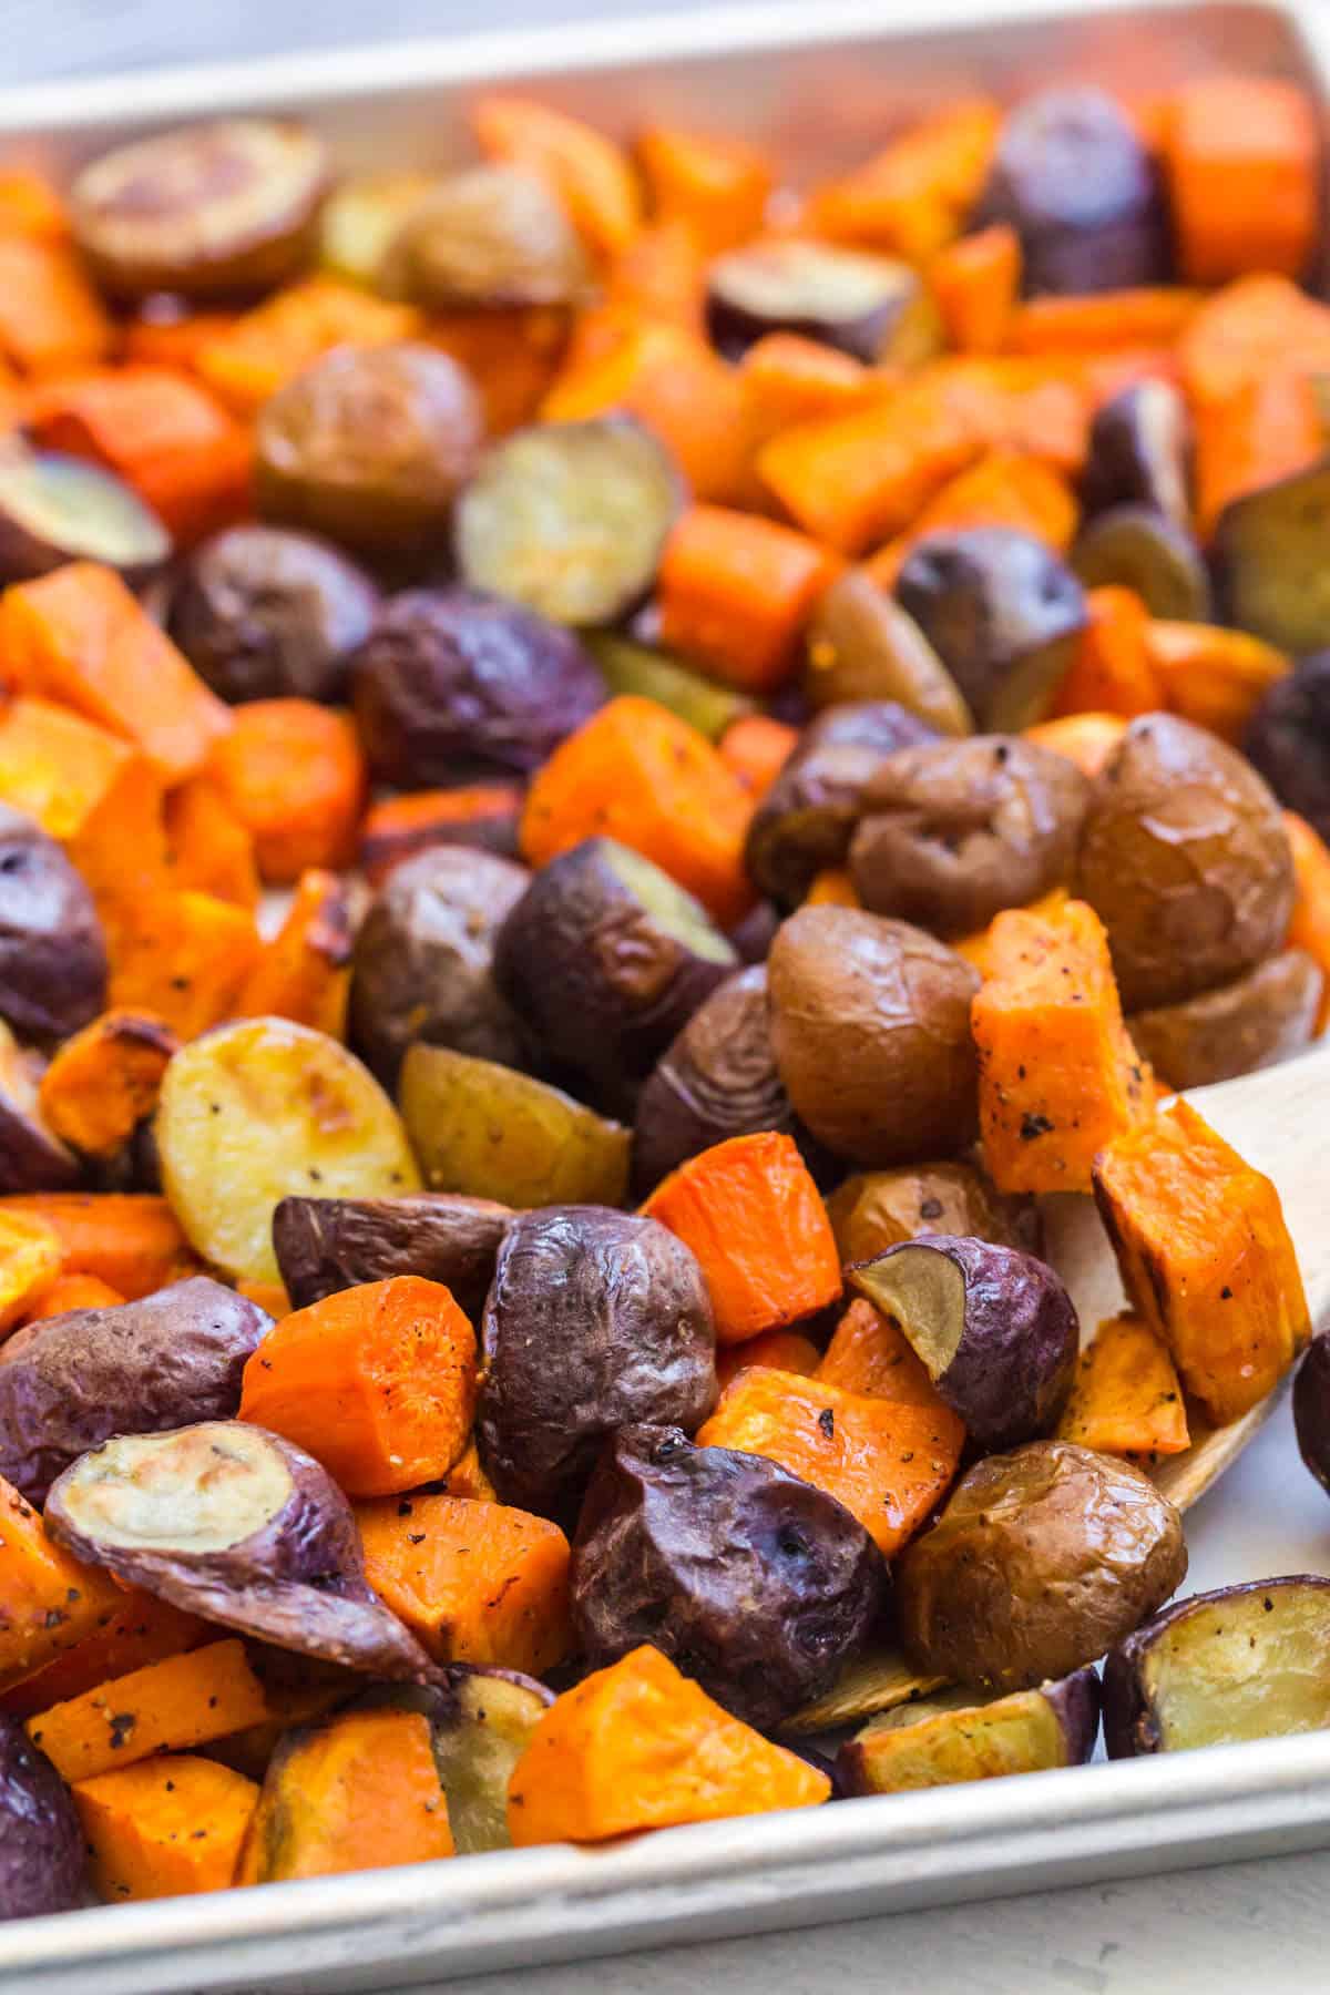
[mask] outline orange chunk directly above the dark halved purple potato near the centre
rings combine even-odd
[[[522,854],[544,866],[604,834],[654,860],[722,926],[754,902],[744,872],[752,800],[704,734],[622,694],[562,742],[526,792]]]

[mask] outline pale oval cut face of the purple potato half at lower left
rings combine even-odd
[[[86,1454],[66,1486],[80,1532],[110,1550],[225,1552],[277,1516],[291,1472],[261,1434],[207,1420],[126,1434]]]

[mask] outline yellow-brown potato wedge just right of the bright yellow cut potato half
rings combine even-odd
[[[628,1191],[628,1129],[530,1073],[417,1043],[399,1099],[431,1191],[518,1211],[618,1205]]]

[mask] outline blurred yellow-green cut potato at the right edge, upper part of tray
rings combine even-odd
[[[1226,505],[1214,527],[1224,616],[1304,658],[1330,646],[1330,459]]]

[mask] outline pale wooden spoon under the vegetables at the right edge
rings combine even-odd
[[[1264,1073],[1196,1087],[1188,1101],[1246,1163],[1274,1179],[1298,1249],[1312,1331],[1330,1329],[1330,1047]],[[1045,1253],[1071,1289],[1083,1337],[1089,1339],[1103,1317],[1127,1305],[1109,1235],[1093,1199],[1059,1193],[1041,1205]],[[1286,1387],[1288,1381],[1282,1381],[1228,1426],[1204,1426],[1192,1416],[1190,1448],[1151,1470],[1178,1510],[1190,1508],[1236,1462]],[[835,1688],[792,1718],[786,1730],[828,1732],[909,1698],[925,1698],[941,1682],[939,1676],[917,1676],[899,1652],[881,1650],[851,1664]]]

